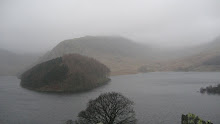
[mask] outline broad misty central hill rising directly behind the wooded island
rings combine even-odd
[[[68,53],[93,57],[111,69],[112,75],[137,73],[143,63],[152,61],[146,45],[135,43],[120,36],[85,36],[59,43],[40,62]]]

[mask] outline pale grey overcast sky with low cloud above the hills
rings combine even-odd
[[[85,35],[176,47],[208,42],[220,35],[220,0],[0,0],[0,48],[47,51]]]

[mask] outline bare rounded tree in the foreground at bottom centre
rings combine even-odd
[[[120,93],[101,94],[90,100],[87,108],[78,114],[78,124],[136,124],[131,100]]]

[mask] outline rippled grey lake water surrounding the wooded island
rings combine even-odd
[[[88,92],[51,94],[24,89],[16,77],[0,77],[0,124],[63,124],[76,119],[89,99],[110,91],[135,102],[139,124],[180,124],[181,114],[189,112],[220,124],[220,95],[198,92],[220,83],[219,72],[154,72],[111,79]]]

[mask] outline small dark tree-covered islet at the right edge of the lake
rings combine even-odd
[[[206,88],[200,88],[200,93],[207,93],[207,94],[220,94],[220,84],[217,86],[208,86]]]

